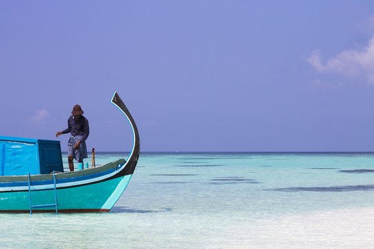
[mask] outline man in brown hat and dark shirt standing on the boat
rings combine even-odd
[[[68,128],[64,131],[57,131],[56,137],[65,133],[71,133],[68,140],[68,164],[70,171],[74,171],[73,159],[83,164],[83,158],[87,158],[86,139],[90,133],[88,120],[82,116],[84,111],[79,104],[75,104],[71,116],[68,118]]]

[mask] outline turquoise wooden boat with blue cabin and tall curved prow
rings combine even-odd
[[[129,110],[118,93],[111,102],[124,113],[133,130],[133,147],[127,159],[63,172],[58,141],[5,138],[3,146],[0,144],[0,212],[109,212],[129,184],[140,154],[139,133]],[[10,147],[6,147],[8,143]],[[30,153],[17,156],[17,149],[24,152],[25,147]],[[10,148],[15,152],[9,152]],[[12,165],[7,155],[11,155]],[[20,174],[6,175],[9,166]]]

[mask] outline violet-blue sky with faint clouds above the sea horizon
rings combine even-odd
[[[0,1],[0,136],[87,147],[374,151],[374,1]]]

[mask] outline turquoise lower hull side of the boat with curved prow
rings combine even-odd
[[[132,175],[107,181],[57,189],[59,212],[109,212],[126,189]],[[30,192],[32,205],[55,202],[55,190]],[[28,191],[0,193],[0,212],[30,212]],[[55,207],[38,208],[32,212],[55,212]]]

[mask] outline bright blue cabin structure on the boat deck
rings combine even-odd
[[[59,141],[0,136],[0,176],[64,172]]]

